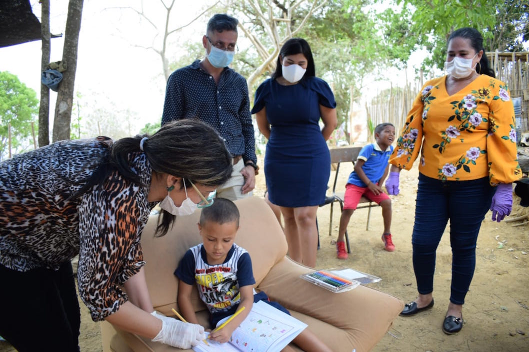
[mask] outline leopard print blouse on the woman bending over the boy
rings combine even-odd
[[[120,289],[145,264],[141,231],[156,203],[147,195],[144,153],[130,164],[143,185],[110,175],[104,187],[70,198],[92,175],[112,140],[61,141],[0,163],[0,265],[57,270],[79,254],[78,286],[94,321],[127,301]]]

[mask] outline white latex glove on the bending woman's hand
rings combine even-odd
[[[164,317],[156,311],[151,313],[162,321],[162,328],[153,342],[162,342],[172,347],[189,349],[206,338],[204,327],[198,324],[185,323],[180,320]]]

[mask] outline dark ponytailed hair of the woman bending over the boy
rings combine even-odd
[[[141,150],[143,137],[148,139],[143,141]],[[162,173],[174,175],[185,179],[188,188],[191,187],[190,182],[221,186],[230,178],[233,170],[232,156],[218,133],[197,119],[183,119],[163,125],[150,137],[143,134],[114,142],[77,196],[94,186],[102,187],[113,172],[139,186],[150,186],[141,184],[138,173],[131,168],[131,154],[141,152],[149,160],[153,177]],[[183,186],[183,183],[180,184],[180,188]],[[157,234],[163,236],[174,223],[175,216],[163,210],[160,217]]]

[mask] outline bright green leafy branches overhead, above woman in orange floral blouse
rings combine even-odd
[[[390,6],[379,15],[381,32],[395,57],[406,62],[415,49],[431,53],[424,68],[442,69],[446,40],[461,27],[481,32],[487,51],[521,51],[529,31],[526,0],[375,0]],[[447,15],[450,14],[450,15]]]

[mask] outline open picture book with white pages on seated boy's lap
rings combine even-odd
[[[227,319],[227,318],[225,318]],[[222,324],[224,320],[218,322]],[[307,325],[294,317],[259,301],[253,303],[252,310],[241,325],[233,331],[232,339],[227,344],[216,344],[209,341],[193,347],[195,351],[252,351],[272,352],[285,348]],[[226,346],[230,345],[230,346]]]

